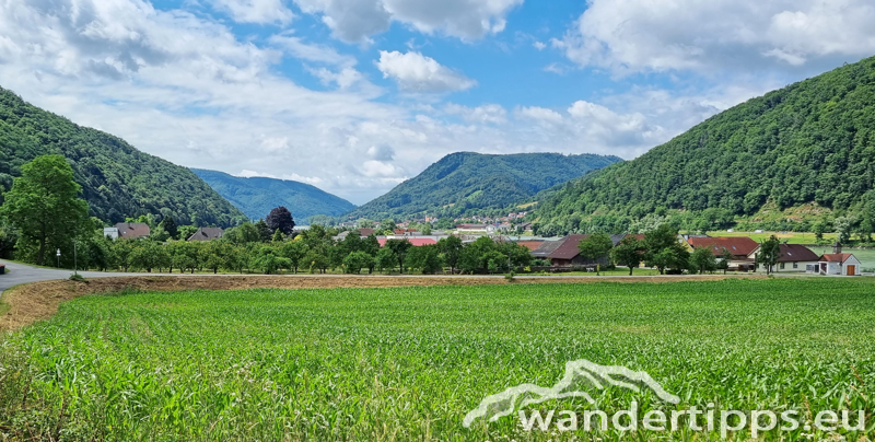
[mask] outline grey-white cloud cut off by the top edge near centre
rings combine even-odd
[[[505,16],[523,0],[295,0],[305,13],[320,14],[335,36],[348,43],[399,22],[427,34],[477,39],[504,30]]]

